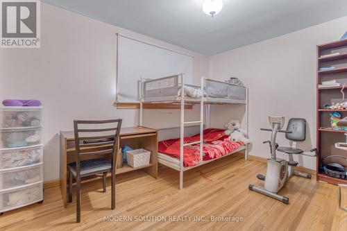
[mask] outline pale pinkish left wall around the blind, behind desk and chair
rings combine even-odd
[[[208,75],[208,57],[42,3],[41,48],[0,49],[0,99],[40,99],[44,104],[44,180],[59,178],[60,130],[73,119],[122,118],[137,126],[137,110],[117,110],[116,36],[194,55],[193,75]],[[144,125],[178,126],[178,110],[146,110]],[[193,112],[196,112],[195,114]],[[159,114],[160,113],[160,114]],[[187,118],[198,116],[198,108]],[[195,119],[195,118],[194,118]]]

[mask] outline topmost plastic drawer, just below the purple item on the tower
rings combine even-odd
[[[1,107],[0,128],[43,126],[40,107]]]

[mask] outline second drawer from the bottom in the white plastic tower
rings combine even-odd
[[[42,164],[30,169],[0,171],[0,190],[42,181]]]

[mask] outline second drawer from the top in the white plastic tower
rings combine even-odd
[[[0,130],[0,148],[17,148],[37,144],[42,144],[41,128]]]

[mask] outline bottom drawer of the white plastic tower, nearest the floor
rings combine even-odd
[[[42,182],[23,189],[0,192],[0,212],[24,207],[43,200]]]

